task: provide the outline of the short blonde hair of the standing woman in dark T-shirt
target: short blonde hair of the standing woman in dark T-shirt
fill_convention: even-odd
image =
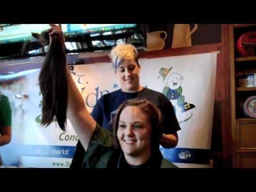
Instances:
[[[109,57],[111,59],[114,70],[121,64],[123,60],[133,59],[138,62],[138,51],[132,44],[118,43],[110,52]]]

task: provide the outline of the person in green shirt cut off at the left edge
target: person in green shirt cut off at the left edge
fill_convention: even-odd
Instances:
[[[9,99],[0,92],[0,147],[11,141],[12,111]],[[0,166],[3,164],[0,155]]]

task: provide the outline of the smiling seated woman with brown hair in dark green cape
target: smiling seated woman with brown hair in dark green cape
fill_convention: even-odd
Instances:
[[[89,122],[90,118],[85,115],[84,121]],[[78,134],[86,151],[84,168],[177,168],[159,150],[163,134],[161,111],[145,99],[122,103],[114,120],[113,134],[95,121],[84,129],[92,134],[89,140]]]

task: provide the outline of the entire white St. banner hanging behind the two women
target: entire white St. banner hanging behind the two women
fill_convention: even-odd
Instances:
[[[140,59],[142,86],[164,93],[180,123],[179,143],[162,154],[179,167],[209,167],[217,53]],[[39,69],[0,77],[1,91],[11,102],[13,137],[0,147],[5,166],[69,167],[77,137],[70,122],[39,125],[42,95]],[[120,89],[111,63],[74,66],[72,76],[89,112],[106,93]],[[26,93],[28,98],[16,98]]]

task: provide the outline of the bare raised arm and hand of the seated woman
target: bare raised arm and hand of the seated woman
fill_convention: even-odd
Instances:
[[[65,37],[63,36],[62,30],[59,26],[51,25],[48,30],[50,35],[50,43],[52,43],[52,35],[58,34],[64,47]],[[66,67],[67,82],[68,82],[68,107],[67,107],[67,118],[69,118],[77,137],[81,141],[85,150],[89,145],[90,139],[96,127],[96,122],[91,117],[86,109],[82,95],[79,93],[69,69]]]

